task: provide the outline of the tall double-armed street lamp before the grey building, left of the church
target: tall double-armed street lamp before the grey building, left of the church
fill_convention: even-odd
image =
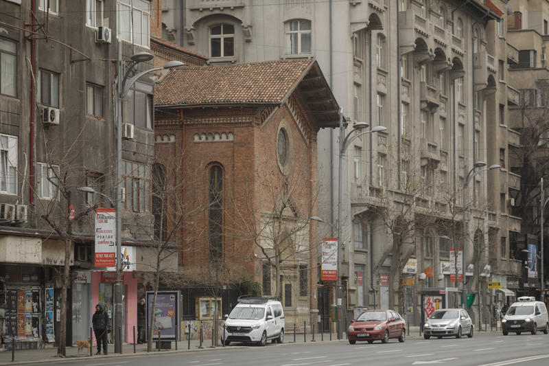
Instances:
[[[122,60],[122,43],[118,43],[118,80],[117,80],[117,136],[116,136],[116,182],[115,189],[115,211],[116,211],[116,282],[115,282],[115,352],[122,353],[122,266],[119,260],[122,251],[122,234],[121,234],[121,201],[122,190],[120,183],[122,181],[122,101],[126,98],[126,94],[132,88],[133,84],[142,76],[153,71],[162,69],[172,69],[173,67],[183,66],[183,62],[169,61],[163,67],[155,67],[136,73],[130,78],[130,73],[135,66],[141,62],[148,62],[154,56],[148,52],[137,52],[131,57],[130,65],[126,70],[126,65]],[[86,191],[84,191],[86,192]],[[111,201],[112,202],[112,201]]]

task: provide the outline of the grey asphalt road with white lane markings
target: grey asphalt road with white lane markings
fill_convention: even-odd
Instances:
[[[504,366],[549,365],[549,335],[517,336],[475,334],[473,339],[408,338],[405,343],[391,339],[387,344],[347,341],[266,347],[229,346],[200,352],[95,358],[63,362],[72,366],[347,366],[347,365],[452,365]]]

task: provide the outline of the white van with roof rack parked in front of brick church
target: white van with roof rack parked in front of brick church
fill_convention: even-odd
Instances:
[[[240,297],[231,314],[225,315],[225,330],[222,340],[231,342],[253,342],[266,345],[284,341],[284,311],[280,301],[267,297]]]

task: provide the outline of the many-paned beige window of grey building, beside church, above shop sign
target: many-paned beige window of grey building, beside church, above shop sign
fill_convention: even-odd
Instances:
[[[150,167],[133,161],[122,161],[122,179],[126,186],[124,209],[133,212],[150,212]]]

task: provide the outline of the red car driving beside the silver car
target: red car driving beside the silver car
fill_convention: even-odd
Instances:
[[[356,341],[387,343],[390,338],[397,338],[399,342],[406,339],[406,322],[393,310],[366,310],[358,319],[351,320],[347,330],[351,345]]]

